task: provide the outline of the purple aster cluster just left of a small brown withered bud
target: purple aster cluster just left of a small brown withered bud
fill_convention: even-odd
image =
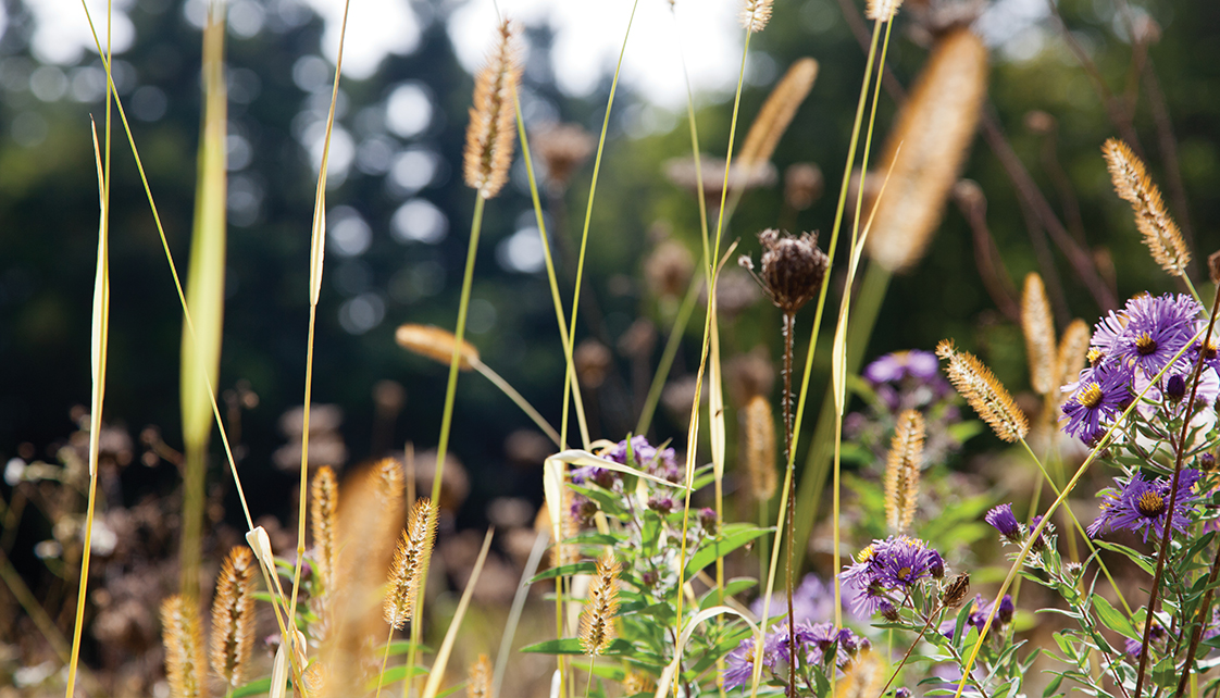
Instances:
[[[874,541],[839,578],[859,616],[894,616],[911,588],[921,580],[943,578],[944,559],[927,543],[908,536]]]

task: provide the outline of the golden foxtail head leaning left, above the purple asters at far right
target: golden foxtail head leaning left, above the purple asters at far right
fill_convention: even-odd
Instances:
[[[1169,215],[1160,189],[1148,177],[1144,164],[1126,143],[1110,138],[1102,145],[1105,165],[1114,181],[1114,190],[1131,204],[1136,227],[1152,253],[1152,259],[1172,276],[1186,276],[1191,250],[1182,232]]]

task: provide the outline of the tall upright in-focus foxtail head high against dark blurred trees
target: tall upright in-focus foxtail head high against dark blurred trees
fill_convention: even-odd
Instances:
[[[509,179],[516,139],[516,93],[521,65],[514,27],[505,20],[487,65],[475,77],[475,104],[466,128],[466,185],[483,199],[500,193]]]

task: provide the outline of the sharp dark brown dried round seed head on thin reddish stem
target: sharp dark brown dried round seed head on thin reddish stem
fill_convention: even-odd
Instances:
[[[769,228],[759,233],[759,242],[762,244],[759,283],[776,308],[793,315],[817,295],[830,257],[817,249],[817,233],[792,237]],[[750,257],[743,255],[738,262],[754,271]]]

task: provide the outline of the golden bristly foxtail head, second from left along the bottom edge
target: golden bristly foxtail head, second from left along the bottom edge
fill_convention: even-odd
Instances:
[[[233,688],[245,683],[254,652],[254,580],[257,572],[254,553],[245,545],[235,545],[216,578],[212,670]]]

